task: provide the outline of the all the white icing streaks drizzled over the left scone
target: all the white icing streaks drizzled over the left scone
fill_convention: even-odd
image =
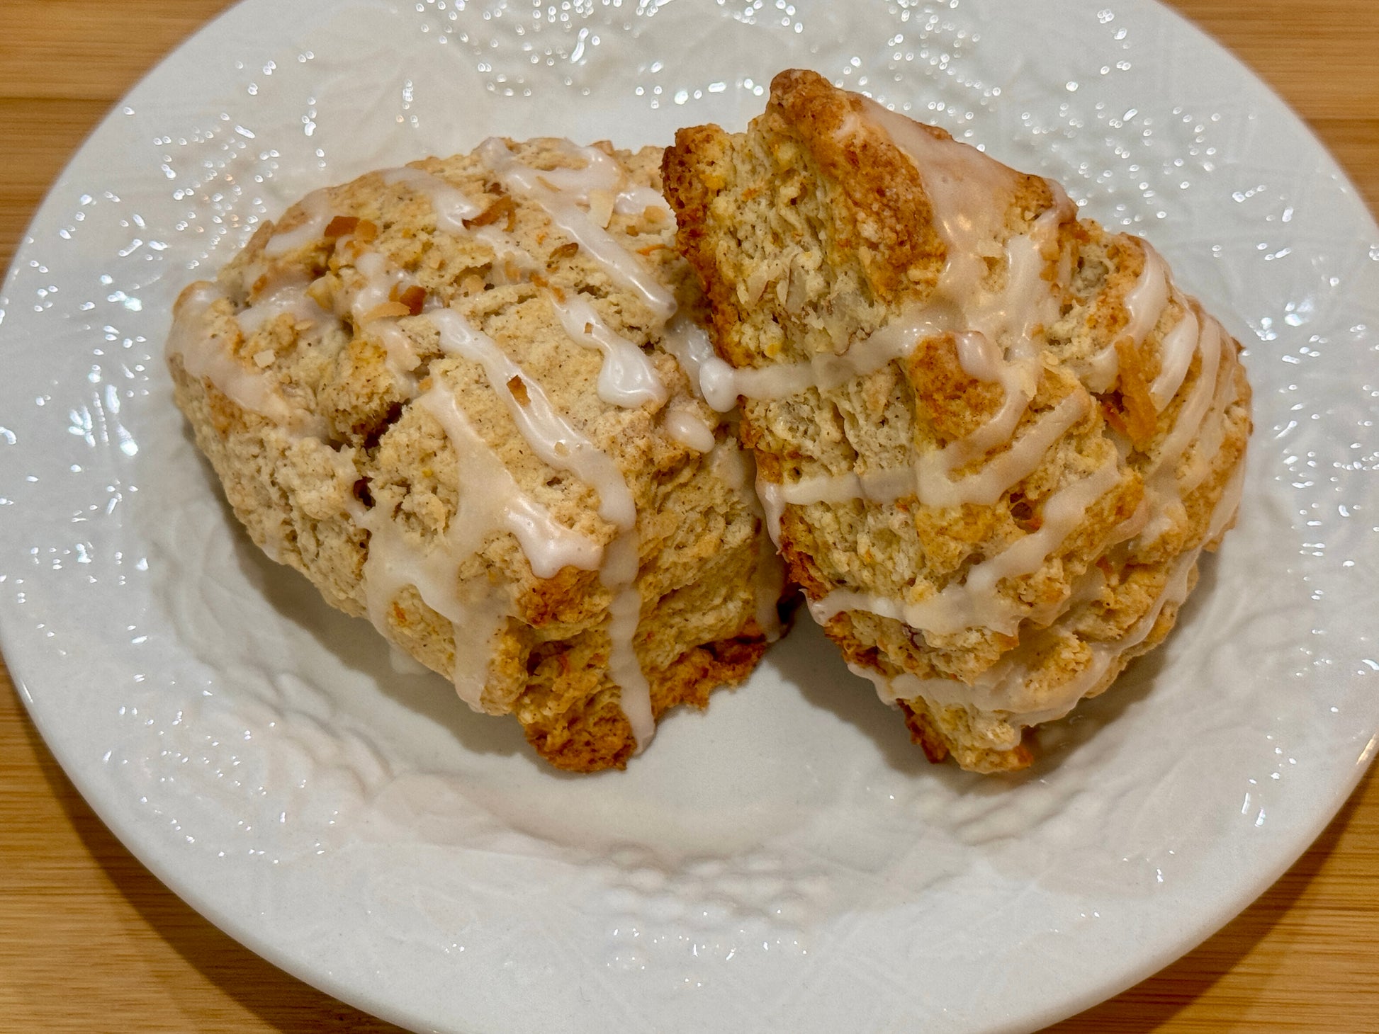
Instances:
[[[669,318],[676,309],[673,295],[663,288],[632,252],[622,248],[603,226],[608,215],[645,212],[651,207],[667,210],[661,194],[650,187],[625,183],[621,165],[593,148],[567,149],[585,157],[585,168],[539,172],[519,163],[506,145],[490,141],[485,145],[491,165],[505,186],[541,204],[552,221],[571,240],[592,255],[615,281],[637,291],[661,318]],[[538,269],[536,261],[513,237],[496,225],[467,227],[465,221],[483,214],[483,208],[462,190],[441,176],[419,168],[400,168],[383,175],[385,183],[401,185],[425,196],[434,212],[439,232],[467,234],[487,243],[505,265],[495,267],[495,277],[525,277]],[[607,194],[603,200],[601,194]],[[597,223],[579,204],[590,204],[600,196],[604,208],[603,223]],[[308,219],[301,226],[269,239],[265,255],[281,255],[319,240],[334,212],[328,194],[316,192],[302,201]],[[516,267],[516,273],[512,269]],[[387,365],[404,393],[414,396],[444,427],[459,465],[461,496],[444,535],[437,536],[426,550],[419,550],[404,535],[401,525],[378,507],[365,509],[350,500],[348,509],[361,527],[370,531],[370,550],[364,564],[364,593],[370,619],[385,631],[389,627],[387,608],[405,586],[416,587],[422,601],[454,627],[454,680],[456,692],[472,707],[499,710],[502,706],[484,700],[492,644],[507,619],[516,614],[513,601],[501,586],[490,583],[487,575],[461,582],[459,567],[474,554],[491,534],[510,532],[523,549],[532,572],[538,578],[552,578],[563,567],[600,572],[604,586],[614,593],[610,604],[610,677],[621,689],[621,704],[632,724],[636,749],[640,751],[655,731],[651,689],[641,671],[634,642],[641,614],[641,594],[637,587],[638,536],[636,509],[627,483],[611,456],[597,449],[579,434],[570,422],[556,412],[542,389],[521,368],[512,363],[496,343],[476,331],[456,309],[432,306],[427,316],[440,334],[441,349],[479,363],[502,398],[528,445],[547,465],[568,470],[590,485],[598,495],[598,513],[618,529],[618,538],[607,547],[553,520],[550,513],[520,491],[502,460],[469,425],[454,396],[440,386],[415,397],[416,383],[411,371],[418,367],[418,356],[411,338],[397,325],[393,316],[368,318],[381,305],[392,301],[397,291],[412,285],[404,272],[389,265],[385,255],[363,251],[354,256],[354,269],[361,278],[341,299],[342,312],[349,312],[356,325],[367,325],[387,353]],[[276,382],[263,369],[250,369],[234,361],[225,342],[204,334],[205,309],[222,296],[214,285],[193,292],[183,305],[168,339],[168,352],[183,356],[188,371],[205,376],[245,409],[261,412],[270,419],[287,422],[292,412],[280,396]],[[592,306],[581,298],[563,298],[553,306],[567,332],[581,345],[604,353],[600,372],[600,397],[615,405],[663,405],[669,392],[661,382],[647,356],[630,341],[614,334]],[[298,321],[328,325],[334,318],[320,309],[306,294],[305,285],[283,285],[274,294],[259,299],[240,314],[245,334],[283,313]],[[193,330],[196,328],[196,330]],[[707,339],[685,318],[667,338],[684,342],[681,364],[690,368],[707,349]],[[667,341],[667,346],[672,342]],[[698,390],[698,368],[691,383]],[[521,385],[521,400],[514,385]],[[731,405],[731,403],[729,403]],[[669,433],[701,452],[716,448],[713,429],[688,409],[667,414]],[[298,433],[301,436],[301,433]],[[353,477],[353,463],[342,476]],[[750,491],[743,498],[749,498]],[[764,547],[758,557],[757,600],[758,623],[772,638],[778,634],[775,601],[779,598],[779,558]],[[776,575],[774,590],[763,590],[763,579]],[[769,598],[768,598],[769,597]]]

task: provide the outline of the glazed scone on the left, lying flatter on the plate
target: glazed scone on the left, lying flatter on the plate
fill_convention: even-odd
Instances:
[[[252,539],[576,772],[778,627],[750,460],[665,347],[703,332],[659,160],[494,138],[319,190],[168,339]]]

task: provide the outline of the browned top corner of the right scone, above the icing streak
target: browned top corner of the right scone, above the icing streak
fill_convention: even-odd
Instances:
[[[717,127],[680,130],[662,160],[677,243],[703,284],[724,358],[756,367],[794,342],[805,353],[841,352],[847,327],[874,328],[887,306],[932,290],[945,251],[927,218],[928,197],[914,167],[862,120],[859,99],[840,102],[815,73],[783,72],[753,121],[753,139],[761,150],[749,164]],[[829,196],[796,207],[803,182],[827,183]],[[775,266],[772,276],[749,281],[732,251],[720,247],[738,219],[767,226],[768,248],[749,258]],[[830,265],[826,256],[847,258]],[[822,324],[805,323],[798,307],[801,285],[812,280],[827,281],[832,296]],[[767,283],[779,288],[761,290]],[[760,332],[743,321],[743,305],[767,323]]]

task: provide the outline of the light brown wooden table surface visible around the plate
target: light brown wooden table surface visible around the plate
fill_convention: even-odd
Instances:
[[[226,0],[0,0],[0,267],[106,109]],[[1379,0],[1174,0],[1379,210]],[[101,824],[0,666],[0,1030],[383,1031],[221,933]],[[1254,906],[1052,1030],[1379,1031],[1379,780]]]

